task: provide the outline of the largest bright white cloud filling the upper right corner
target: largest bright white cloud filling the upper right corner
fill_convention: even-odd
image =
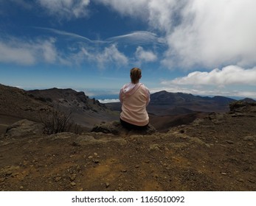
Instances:
[[[187,68],[255,64],[255,6],[253,0],[188,1],[181,23],[167,31],[163,63]]]

